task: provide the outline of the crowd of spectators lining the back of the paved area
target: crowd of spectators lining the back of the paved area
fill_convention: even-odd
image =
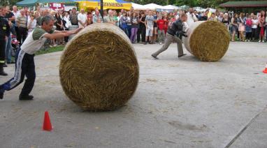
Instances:
[[[27,38],[27,34],[31,34],[31,31],[41,26],[41,18],[45,15],[55,17],[55,29],[59,31],[104,22],[120,27],[129,36],[131,43],[162,44],[164,43],[168,27],[175,20],[178,20],[182,13],[187,13],[188,17],[185,27],[189,27],[189,24],[192,22],[203,20],[222,22],[225,24],[226,29],[229,30],[231,41],[264,42],[265,38],[267,38],[267,17],[264,11],[250,14],[223,13],[219,11],[212,13],[207,9],[205,12],[200,13],[189,8],[189,10],[168,13],[155,10],[133,10],[131,8],[129,11],[104,10],[102,17],[98,8],[88,12],[80,9],[78,12],[76,8],[64,11],[41,9],[40,7],[36,7],[36,10],[29,10],[29,8],[24,7],[18,10],[17,6],[13,6],[12,10],[10,10],[10,7],[6,6],[5,12],[0,12],[9,21],[11,34],[17,36],[20,45]],[[8,63],[13,63],[10,59],[10,40],[11,36],[9,36],[6,45],[6,59]],[[62,38],[60,40],[50,40],[49,43],[50,46],[64,45],[68,40],[69,38]]]

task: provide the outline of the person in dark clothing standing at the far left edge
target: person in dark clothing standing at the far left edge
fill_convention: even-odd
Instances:
[[[6,7],[0,6],[0,75],[8,75],[3,71],[3,65],[5,64],[5,52],[6,52],[6,38],[10,34],[10,27],[6,16]]]

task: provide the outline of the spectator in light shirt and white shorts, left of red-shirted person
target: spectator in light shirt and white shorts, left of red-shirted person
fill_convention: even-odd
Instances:
[[[153,36],[153,25],[154,25],[154,17],[152,15],[152,10],[148,11],[147,17],[145,17],[145,45],[147,41],[152,44],[152,36]]]

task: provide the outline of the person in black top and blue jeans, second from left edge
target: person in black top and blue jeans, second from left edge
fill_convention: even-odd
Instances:
[[[6,19],[8,20],[8,24],[10,24],[10,31],[12,34],[15,34],[15,16],[14,14],[10,11],[9,6],[6,6]],[[11,60],[11,34],[9,32],[8,34],[8,40],[6,40],[6,62],[7,64],[14,64],[14,61]]]

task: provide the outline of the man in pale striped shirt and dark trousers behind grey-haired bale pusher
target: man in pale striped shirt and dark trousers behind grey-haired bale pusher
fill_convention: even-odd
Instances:
[[[22,9],[20,10],[20,15],[17,17],[17,27],[18,27],[18,34],[17,40],[20,42],[20,45],[24,42],[27,38],[27,16],[25,15],[25,11]]]

